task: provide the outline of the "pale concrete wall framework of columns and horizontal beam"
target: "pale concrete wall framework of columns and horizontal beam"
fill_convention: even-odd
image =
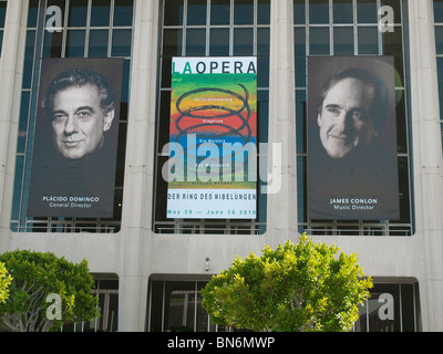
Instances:
[[[0,252],[53,251],[73,261],[86,258],[92,272],[120,277],[121,331],[144,331],[151,274],[207,274],[234,258],[298,240],[292,0],[271,2],[269,143],[281,143],[281,189],[268,196],[267,232],[261,236],[161,235],[152,232],[154,135],[157,90],[158,1],[135,1],[122,229],[114,235],[13,233],[10,215],[20,110],[21,67],[28,1],[8,2],[0,63]],[[443,331],[442,148],[431,0],[410,0],[411,106],[415,235],[413,237],[318,237],[357,252],[367,274],[416,278],[424,331]],[[281,45],[282,39],[288,45]]]

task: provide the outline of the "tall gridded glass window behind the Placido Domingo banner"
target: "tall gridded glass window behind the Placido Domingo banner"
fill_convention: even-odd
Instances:
[[[2,3],[3,1],[0,1],[0,15]],[[45,21],[39,17],[45,15],[45,6],[58,6],[62,10],[63,19],[66,19],[66,22],[62,23],[61,31],[44,30]],[[113,21],[111,21],[112,14]],[[120,230],[131,80],[132,23],[133,0],[30,0],[17,148],[18,167],[11,216],[13,231],[116,232]],[[124,59],[113,218],[34,218],[27,216],[41,58],[109,56]]]

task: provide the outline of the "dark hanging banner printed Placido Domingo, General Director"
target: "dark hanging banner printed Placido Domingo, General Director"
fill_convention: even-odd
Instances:
[[[112,218],[123,60],[42,61],[30,217]]]

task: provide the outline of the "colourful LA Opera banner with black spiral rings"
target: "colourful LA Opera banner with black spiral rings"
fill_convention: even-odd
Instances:
[[[174,58],[167,217],[255,219],[256,58]]]

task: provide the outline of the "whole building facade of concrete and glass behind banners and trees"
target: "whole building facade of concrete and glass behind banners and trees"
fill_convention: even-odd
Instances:
[[[0,1],[0,251],[87,260],[103,315],[66,330],[227,331],[200,305],[212,274],[306,232],[373,279],[354,331],[443,331],[442,0],[14,0]],[[173,58],[230,56],[257,60],[257,208],[171,218]],[[393,59],[396,220],[311,218],[311,56]],[[28,212],[42,61],[68,58],[123,63],[110,218]]]

